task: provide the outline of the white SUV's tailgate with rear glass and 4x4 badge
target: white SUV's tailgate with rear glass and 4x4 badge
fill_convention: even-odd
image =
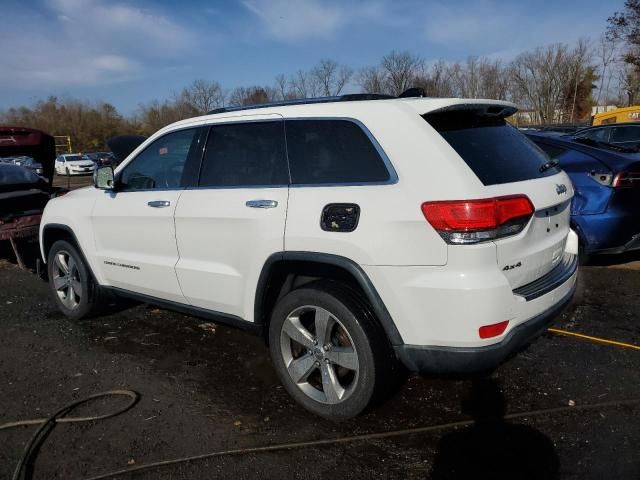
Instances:
[[[484,184],[482,198],[526,195],[534,214],[520,233],[495,240],[496,261],[513,288],[536,280],[562,260],[573,187],[550,158],[504,119],[472,111],[425,118]]]

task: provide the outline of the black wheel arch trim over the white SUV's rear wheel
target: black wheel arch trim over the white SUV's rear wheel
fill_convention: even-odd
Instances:
[[[254,321],[268,326],[269,316],[279,298],[295,288],[322,278],[351,283],[367,300],[390,344],[404,343],[389,311],[364,270],[349,258],[328,253],[292,251],[272,254],[258,278]],[[268,329],[265,328],[265,331]]]

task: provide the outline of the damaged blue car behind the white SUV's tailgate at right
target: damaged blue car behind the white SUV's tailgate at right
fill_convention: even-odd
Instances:
[[[526,132],[575,188],[571,225],[583,259],[640,249],[640,153],[590,138]]]

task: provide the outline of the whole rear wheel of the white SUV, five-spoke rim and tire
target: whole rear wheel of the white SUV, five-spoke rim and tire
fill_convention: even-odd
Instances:
[[[289,394],[331,420],[361,413],[384,390],[393,360],[366,305],[324,282],[294,290],[276,305],[271,357]]]

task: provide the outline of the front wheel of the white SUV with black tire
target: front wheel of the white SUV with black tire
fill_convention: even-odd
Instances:
[[[57,260],[59,255],[69,259],[66,261],[69,273],[64,278],[61,276],[63,273],[63,269],[60,267],[61,263]],[[51,246],[47,256],[47,274],[53,301],[67,317],[80,320],[99,312],[101,307],[100,287],[96,284],[84,257],[73,243],[58,240]],[[63,283],[65,283],[66,289],[62,287],[60,290]],[[79,289],[80,293],[73,291],[69,294],[69,286],[72,289]]]

